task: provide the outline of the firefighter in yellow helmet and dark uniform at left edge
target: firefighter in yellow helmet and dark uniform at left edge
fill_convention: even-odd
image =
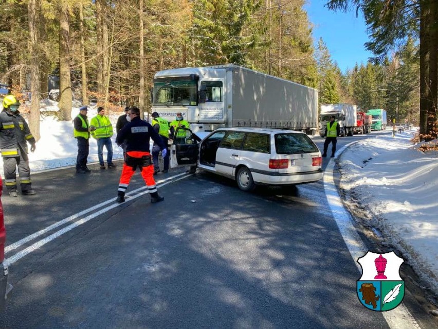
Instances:
[[[35,151],[35,138],[30,133],[26,120],[18,110],[20,102],[14,95],[3,99],[3,111],[0,113],[0,149],[3,157],[5,185],[10,197],[17,196],[16,168],[19,169],[21,192],[23,195],[34,195],[30,180],[27,143],[30,151]]]

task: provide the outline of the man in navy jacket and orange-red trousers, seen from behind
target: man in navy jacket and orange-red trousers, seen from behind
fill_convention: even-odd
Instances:
[[[148,186],[151,202],[160,202],[164,198],[158,195],[155,185],[154,166],[152,165],[149,150],[150,138],[163,150],[163,157],[166,156],[167,148],[151,124],[140,118],[140,110],[138,108],[130,108],[128,114],[129,123],[120,130],[116,137],[117,145],[126,141],[126,159],[123,163],[122,174],[120,176],[117,202],[125,201],[126,189],[137,167],[140,168],[141,176]]]

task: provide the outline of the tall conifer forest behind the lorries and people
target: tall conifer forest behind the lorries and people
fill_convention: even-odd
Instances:
[[[375,57],[342,72],[314,40],[304,0],[2,0],[0,82],[31,95],[37,138],[50,76],[58,117],[71,120],[72,100],[148,112],[155,72],[227,63],[316,88],[321,104],[386,109],[436,137],[438,2],[324,1],[364,16]]]

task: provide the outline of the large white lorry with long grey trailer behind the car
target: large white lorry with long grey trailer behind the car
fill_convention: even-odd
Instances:
[[[221,127],[305,131],[318,127],[318,90],[227,64],[157,72],[152,112],[169,121],[181,112],[193,132]]]

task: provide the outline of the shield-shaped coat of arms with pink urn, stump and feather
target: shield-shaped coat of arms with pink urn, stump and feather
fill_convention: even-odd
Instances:
[[[357,297],[363,306],[375,311],[388,311],[397,307],[405,297],[405,281],[399,270],[404,262],[393,251],[368,251],[357,259],[362,276],[357,281]]]

